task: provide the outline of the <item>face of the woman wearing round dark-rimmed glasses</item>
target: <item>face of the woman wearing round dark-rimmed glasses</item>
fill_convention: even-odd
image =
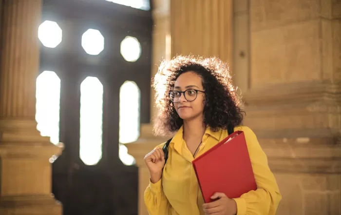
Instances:
[[[174,107],[179,117],[183,120],[190,120],[196,117],[202,117],[204,111],[204,91],[202,78],[193,71],[188,71],[181,74],[174,83],[174,91],[186,92],[186,98],[184,93],[181,93],[178,102],[174,102]],[[195,90],[199,90],[196,92]],[[196,98],[195,98],[195,94]],[[195,99],[194,99],[195,98]],[[192,100],[193,101],[189,101]]]

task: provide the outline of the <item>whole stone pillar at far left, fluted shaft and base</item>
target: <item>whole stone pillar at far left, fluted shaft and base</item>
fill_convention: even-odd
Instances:
[[[41,0],[4,0],[1,13],[0,214],[61,215],[49,162],[61,148],[35,120]]]

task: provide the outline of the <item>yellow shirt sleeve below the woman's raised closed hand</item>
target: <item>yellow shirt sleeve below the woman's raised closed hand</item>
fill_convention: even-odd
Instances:
[[[163,147],[162,143],[155,148]],[[144,193],[144,201],[149,215],[171,215],[171,206],[162,189],[162,177],[156,182],[149,181]]]

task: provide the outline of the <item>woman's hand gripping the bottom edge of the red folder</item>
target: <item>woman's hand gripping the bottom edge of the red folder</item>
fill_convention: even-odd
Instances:
[[[213,202],[203,204],[206,215],[236,215],[237,204],[223,193],[215,193],[211,199],[217,199]]]

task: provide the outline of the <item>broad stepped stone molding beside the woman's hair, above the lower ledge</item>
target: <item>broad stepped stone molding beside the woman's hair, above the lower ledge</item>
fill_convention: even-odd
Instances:
[[[246,92],[245,124],[262,138],[341,138],[341,85],[309,81]]]

